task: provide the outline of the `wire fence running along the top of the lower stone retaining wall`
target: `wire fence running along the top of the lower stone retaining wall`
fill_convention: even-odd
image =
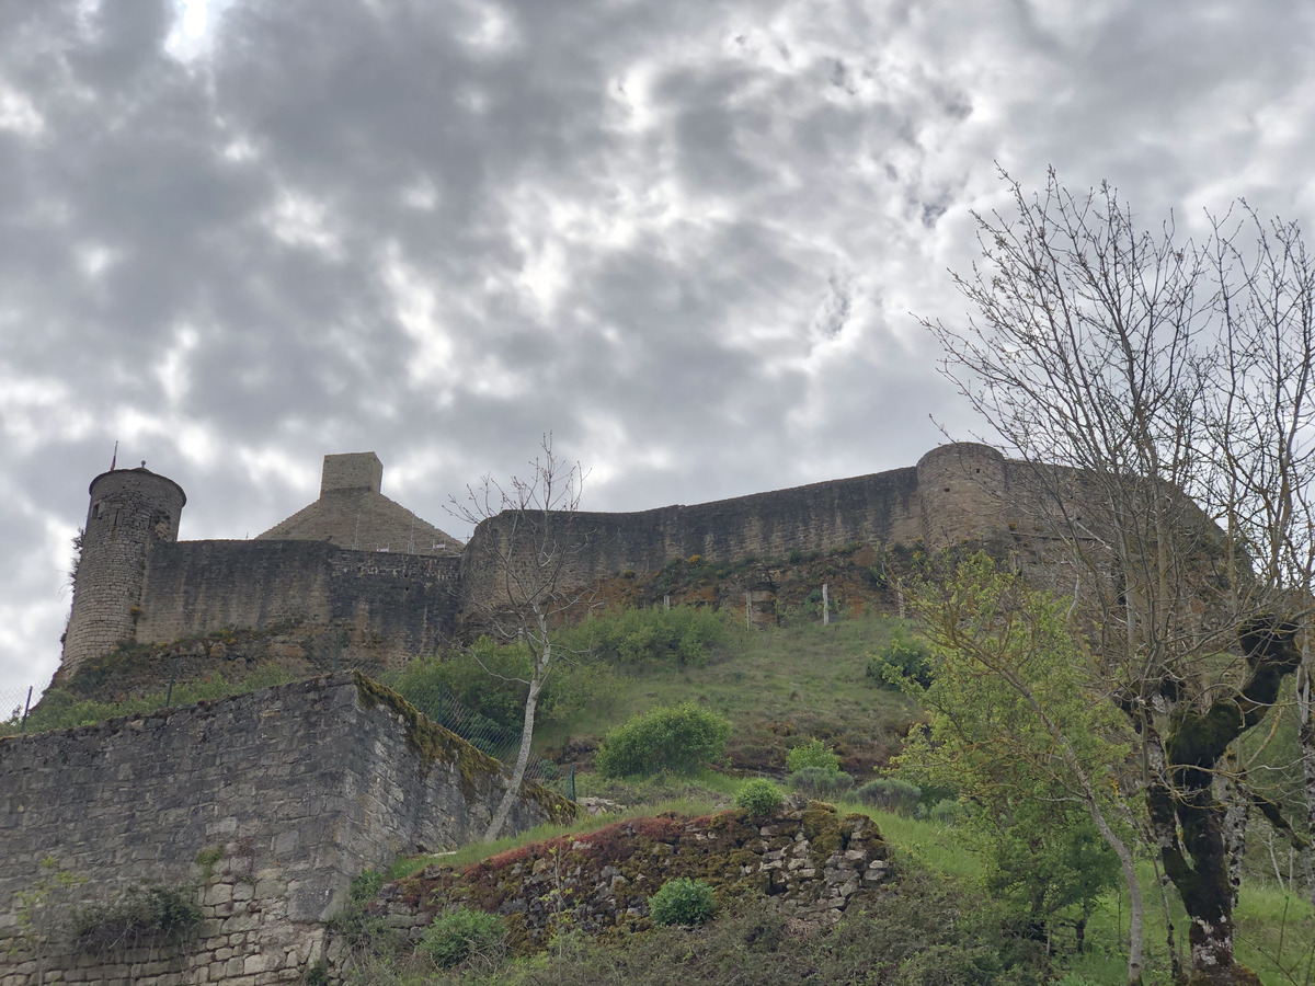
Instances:
[[[251,647],[249,642],[234,644],[216,635],[192,642],[178,653],[108,670],[104,680],[93,677],[83,685],[85,694],[63,689],[42,694],[36,686],[7,688],[0,690],[0,736],[88,726],[339,670],[359,670],[394,688],[430,722],[508,766],[515,763],[521,747],[519,724],[494,722],[463,705],[441,685],[408,681],[377,657],[355,651],[342,632],[263,648]],[[573,770],[563,773],[546,757],[531,755],[525,780],[575,799]]]

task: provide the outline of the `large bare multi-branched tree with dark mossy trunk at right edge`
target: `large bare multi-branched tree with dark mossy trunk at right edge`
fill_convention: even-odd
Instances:
[[[1107,185],[1074,196],[1051,172],[1028,197],[1005,177],[1016,216],[976,217],[982,259],[955,279],[978,318],[923,325],[945,373],[1031,463],[1040,509],[1023,528],[1044,555],[1034,560],[1070,565],[1074,617],[1136,730],[1143,810],[1186,906],[1194,981],[1256,982],[1233,960],[1216,789],[1249,790],[1230,749],[1301,663],[1308,578],[1277,578],[1264,550],[1286,560],[1310,539],[1294,506],[1312,440],[1308,322],[1276,318],[1315,300],[1301,237],[1245,213],[1255,248],[1227,218],[1199,247],[1172,220],[1140,230]]]

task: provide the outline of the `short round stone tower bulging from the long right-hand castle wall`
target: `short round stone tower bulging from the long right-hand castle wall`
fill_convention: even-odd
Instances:
[[[1005,456],[977,442],[932,448],[918,460],[923,542],[939,551],[1009,525]]]

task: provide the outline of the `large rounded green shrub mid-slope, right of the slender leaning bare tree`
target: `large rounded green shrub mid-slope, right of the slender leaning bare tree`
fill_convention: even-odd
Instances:
[[[594,759],[604,777],[689,774],[726,756],[730,722],[693,702],[654,709],[611,730]]]

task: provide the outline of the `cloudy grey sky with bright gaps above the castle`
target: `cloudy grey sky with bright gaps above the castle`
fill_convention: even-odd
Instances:
[[[963,317],[995,162],[1310,226],[1312,11],[0,0],[0,697],[58,664],[116,440],[195,539],[326,452],[463,535],[546,430],[625,510],[967,436],[910,312]]]

